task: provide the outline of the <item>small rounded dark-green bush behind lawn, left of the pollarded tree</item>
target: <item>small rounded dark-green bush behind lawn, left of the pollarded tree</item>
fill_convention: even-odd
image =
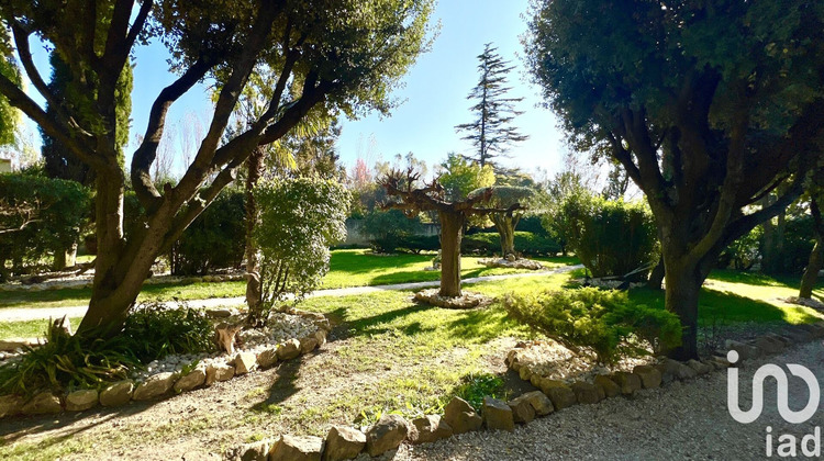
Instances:
[[[398,248],[405,248],[422,231],[419,216],[409,218],[400,210],[375,210],[360,222],[360,232],[370,238],[369,243],[377,252],[390,254]]]

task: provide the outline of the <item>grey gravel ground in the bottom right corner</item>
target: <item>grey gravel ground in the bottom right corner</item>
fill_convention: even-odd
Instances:
[[[781,356],[745,363],[739,381],[742,409],[750,408],[751,376],[765,363],[776,363],[784,370],[786,363],[803,364],[824,384],[824,344],[808,344]],[[783,421],[776,409],[775,380],[765,382],[761,416],[753,424],[739,424],[727,413],[726,387],[726,372],[714,372],[686,384],[642,391],[632,400],[617,397],[567,408],[512,434],[474,432],[433,445],[403,446],[392,459],[756,460],[767,459],[767,426],[772,427],[772,458],[779,458],[781,435],[791,434],[800,442],[816,426],[824,426],[821,404],[819,413],[804,424]],[[803,408],[808,396],[803,381],[790,376],[790,408]],[[824,445],[820,447],[824,449]],[[804,459],[800,443],[798,458]]]

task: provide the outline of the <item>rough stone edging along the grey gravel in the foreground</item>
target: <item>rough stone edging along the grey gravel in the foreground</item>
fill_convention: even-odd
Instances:
[[[713,371],[762,356],[781,353],[793,345],[824,338],[824,322],[791,327],[782,335],[767,334],[747,342],[730,340],[724,350],[710,359],[690,360],[686,363],[662,359],[657,364],[637,366],[632,372],[615,372],[598,375],[594,383],[578,381],[567,385],[537,374],[528,375],[520,367],[512,351],[506,362],[521,376],[527,375],[541,391],[527,392],[509,402],[485,397],[480,415],[466,401],[454,397],[444,409],[444,415],[426,415],[407,421],[399,415],[383,415],[366,432],[354,427],[333,426],[325,438],[283,435],[244,443],[230,449],[227,460],[259,461],[339,461],[357,458],[361,452],[377,457],[397,449],[404,440],[410,443],[430,443],[453,435],[475,430],[514,430],[515,424],[527,424],[536,417],[577,404],[597,404],[619,395],[632,396],[643,389],[654,389],[673,381],[689,381]],[[737,361],[727,360],[735,351]],[[534,381],[533,381],[534,380]]]

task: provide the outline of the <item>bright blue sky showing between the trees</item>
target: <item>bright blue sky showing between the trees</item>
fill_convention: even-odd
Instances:
[[[441,0],[433,16],[433,23],[439,21],[441,29],[432,50],[419,58],[404,78],[404,88],[393,94],[402,104],[388,117],[372,114],[343,121],[337,146],[342,162],[350,167],[363,157],[372,164],[412,151],[427,164],[436,165],[449,151],[471,153],[470,144],[461,140],[454,127],[472,119],[471,102],[466,97],[478,81],[476,56],[486,43],[492,42],[499,54],[515,66],[509,77],[513,87],[510,94],[524,98],[519,105],[524,114],[515,124],[530,136],[512,149],[512,159],[505,164],[527,171],[537,168],[558,171],[565,150],[563,135],[552,112],[537,106],[542,101],[539,90],[526,82],[517,56],[522,54],[519,36],[526,27],[521,15],[527,5],[528,0]],[[46,52],[40,46],[33,48],[37,67],[48,78]],[[160,44],[136,49],[131,139],[145,130],[152,102],[175,78],[167,70],[167,57]],[[168,123],[177,125],[180,132],[193,117],[205,125],[210,113],[209,89],[201,85],[171,106]],[[179,139],[170,144],[172,150],[179,150]],[[180,159],[176,169],[182,169]]]

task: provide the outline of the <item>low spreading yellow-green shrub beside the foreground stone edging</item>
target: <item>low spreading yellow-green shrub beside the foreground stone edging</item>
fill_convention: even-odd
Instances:
[[[570,348],[591,348],[602,363],[679,346],[681,324],[661,308],[633,304],[627,294],[594,288],[508,294],[509,315]]]

